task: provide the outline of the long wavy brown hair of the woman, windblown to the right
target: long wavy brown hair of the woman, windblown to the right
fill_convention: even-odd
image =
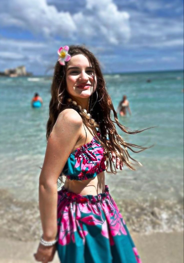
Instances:
[[[134,153],[139,153],[149,147],[143,147],[140,145],[125,142],[124,139],[117,133],[115,123],[122,131],[127,134],[140,133],[150,128],[134,131],[126,130],[126,128],[118,121],[112,100],[106,90],[106,83],[103,78],[99,62],[95,58],[94,54],[91,53],[84,46],[80,45],[70,46],[69,54],[71,55],[71,57],[77,54],[83,54],[85,57],[87,57],[89,62],[91,63],[94,74],[96,75],[96,90],[90,96],[89,113],[91,114],[91,118],[95,119],[96,122],[99,124],[99,132],[101,136],[98,139],[106,151],[106,170],[110,166],[110,172],[116,174],[116,167],[112,161],[111,152],[115,152],[116,156],[120,158],[120,161],[129,169],[135,170],[132,160],[135,162],[137,161],[130,156],[128,150]],[[70,97],[67,92],[67,83],[65,78],[66,68],[67,62],[65,62],[65,66],[60,65],[58,61],[55,64],[54,77],[51,86],[51,100],[49,104],[49,119],[47,122],[47,140],[58,118],[59,113],[66,108],[67,99]],[[75,105],[73,105],[72,108],[79,112],[79,108]],[[111,111],[114,114],[114,120],[111,119]],[[91,132],[89,122],[86,121],[85,117],[81,117],[83,118],[83,123]],[[137,148],[138,150],[135,150],[132,147]],[[59,179],[63,181],[62,176],[60,176]]]

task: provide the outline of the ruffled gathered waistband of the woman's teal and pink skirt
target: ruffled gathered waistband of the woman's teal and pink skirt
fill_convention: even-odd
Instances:
[[[58,195],[68,199],[71,202],[98,203],[98,202],[104,200],[109,195],[109,187],[108,187],[108,185],[105,185],[105,192],[100,193],[98,195],[80,195],[80,194],[75,194],[73,192],[67,191],[63,186],[62,189],[58,192]]]

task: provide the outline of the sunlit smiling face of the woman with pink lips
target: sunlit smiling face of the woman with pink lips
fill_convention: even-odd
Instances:
[[[71,57],[66,69],[66,83],[71,98],[89,100],[96,90],[96,76],[88,58],[82,54]]]

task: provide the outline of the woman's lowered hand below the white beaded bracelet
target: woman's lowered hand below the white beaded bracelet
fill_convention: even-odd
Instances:
[[[51,262],[54,258],[55,251],[56,245],[43,246],[42,244],[39,244],[38,250],[36,254],[34,254],[35,260],[42,263]]]

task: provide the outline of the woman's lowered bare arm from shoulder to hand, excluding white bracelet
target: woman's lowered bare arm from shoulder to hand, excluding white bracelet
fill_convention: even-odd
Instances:
[[[60,113],[49,136],[45,159],[39,178],[39,210],[43,239],[52,241],[57,236],[57,180],[64,165],[79,139],[83,122],[73,109]],[[35,259],[51,259],[50,251],[39,245]],[[38,260],[39,261],[39,260]]]

